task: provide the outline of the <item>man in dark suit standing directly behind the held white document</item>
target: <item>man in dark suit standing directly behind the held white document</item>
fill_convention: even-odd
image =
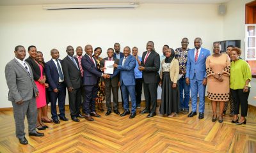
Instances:
[[[116,64],[118,64],[119,59],[115,59],[113,57],[114,50],[113,48],[108,48],[108,57],[102,59],[100,61],[100,68],[104,68],[105,61],[115,61]],[[116,69],[114,69],[115,71]],[[103,82],[102,85],[105,87],[105,94],[106,94],[106,104],[108,111],[106,112],[106,116],[108,116],[111,113],[112,107],[111,107],[111,89],[113,94],[113,110],[118,115],[120,112],[118,112],[118,82],[119,78],[118,76],[113,78],[102,78]]]

